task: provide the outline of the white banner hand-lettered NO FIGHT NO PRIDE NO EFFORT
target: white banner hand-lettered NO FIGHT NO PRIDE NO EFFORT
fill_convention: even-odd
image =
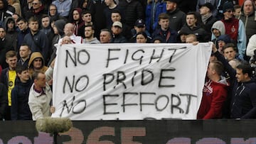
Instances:
[[[195,119],[212,43],[58,47],[53,117]]]

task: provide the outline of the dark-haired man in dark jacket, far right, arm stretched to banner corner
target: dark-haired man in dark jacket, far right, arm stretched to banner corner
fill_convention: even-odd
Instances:
[[[213,52],[230,75],[230,118],[256,118],[256,83],[252,78],[252,68],[247,62],[242,62],[235,72],[215,45]]]

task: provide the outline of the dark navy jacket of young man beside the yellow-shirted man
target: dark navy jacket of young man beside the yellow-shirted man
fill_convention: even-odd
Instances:
[[[28,95],[32,80],[26,83],[16,78],[14,89],[11,91],[11,120],[32,120],[32,114],[28,106]]]

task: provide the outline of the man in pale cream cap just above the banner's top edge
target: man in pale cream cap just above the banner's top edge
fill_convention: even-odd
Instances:
[[[112,24],[112,43],[125,43],[127,39],[122,35],[122,23],[120,21],[114,21]]]

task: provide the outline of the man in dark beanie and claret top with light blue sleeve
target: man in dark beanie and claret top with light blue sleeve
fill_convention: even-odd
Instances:
[[[223,19],[221,21],[225,26],[225,34],[230,35],[230,38],[237,44],[239,57],[243,59],[246,48],[245,26],[241,20],[233,18],[233,11],[232,2],[228,1],[223,4]]]

